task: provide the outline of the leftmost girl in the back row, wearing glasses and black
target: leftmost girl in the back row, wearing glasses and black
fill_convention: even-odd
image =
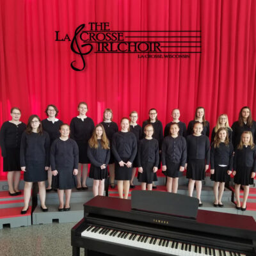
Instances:
[[[20,195],[20,140],[26,124],[20,122],[20,109],[12,108],[12,120],[4,122],[0,130],[3,171],[7,173],[9,195]]]

